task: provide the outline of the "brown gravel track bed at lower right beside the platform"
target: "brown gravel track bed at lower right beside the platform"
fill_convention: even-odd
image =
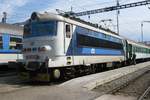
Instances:
[[[106,83],[102,86],[99,86],[94,89],[94,91],[99,92],[100,96],[105,94],[111,95],[124,95],[124,96],[133,96],[138,100],[149,100],[149,99],[139,99],[147,97],[149,98],[150,92],[150,70],[145,69],[140,74],[140,71],[137,71],[134,74],[122,77],[120,79],[114,80],[112,82]],[[147,91],[145,91],[148,88]],[[145,92],[144,92],[145,91]],[[143,93],[144,92],[144,93]]]

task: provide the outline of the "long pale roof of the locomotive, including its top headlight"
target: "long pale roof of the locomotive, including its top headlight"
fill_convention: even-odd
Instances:
[[[118,37],[118,38],[122,39],[122,37],[120,37],[115,32],[104,29],[102,27],[97,27],[96,24],[92,24],[92,23],[86,22],[84,20],[81,20],[79,18],[75,18],[75,17],[69,17],[69,16],[65,16],[65,15],[63,16],[63,15],[54,14],[54,13],[47,13],[47,12],[45,12],[44,14],[34,12],[31,15],[31,20],[39,20],[39,21],[59,20],[59,21],[65,21],[65,22],[68,22],[68,23],[71,23],[71,24],[75,24],[75,25],[84,27],[84,28],[88,28],[88,29],[93,30],[93,31],[103,32],[105,34],[112,35],[114,37]]]

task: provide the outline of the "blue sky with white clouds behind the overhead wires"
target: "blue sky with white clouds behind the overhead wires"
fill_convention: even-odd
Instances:
[[[143,0],[119,0],[120,4]],[[116,0],[0,0],[0,19],[7,12],[7,22],[16,23],[27,20],[31,13],[54,12],[56,9],[74,12],[92,10],[116,5]],[[119,33],[135,41],[141,41],[141,22],[150,21],[150,5],[120,10]],[[116,11],[80,17],[116,31]],[[111,22],[101,20],[111,19]],[[143,24],[144,41],[150,41],[150,23]]]

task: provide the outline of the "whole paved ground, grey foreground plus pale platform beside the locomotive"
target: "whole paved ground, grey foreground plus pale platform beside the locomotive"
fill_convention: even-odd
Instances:
[[[104,84],[115,78],[121,77],[122,75],[132,73],[149,65],[150,62],[146,62],[136,66],[128,66],[108,72],[72,79],[59,85],[29,85],[28,88],[17,89],[9,92],[5,91],[4,93],[0,92],[0,100],[94,100],[96,98],[97,100],[100,100],[98,99],[99,93],[91,91],[91,89],[97,85]],[[0,86],[2,87],[1,82]]]

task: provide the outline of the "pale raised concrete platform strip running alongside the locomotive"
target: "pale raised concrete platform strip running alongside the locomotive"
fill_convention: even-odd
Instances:
[[[115,70],[75,78],[60,84],[59,86],[71,90],[92,90],[97,86],[103,85],[105,83],[111,82],[112,80],[148,67],[150,67],[150,62],[144,62]]]

